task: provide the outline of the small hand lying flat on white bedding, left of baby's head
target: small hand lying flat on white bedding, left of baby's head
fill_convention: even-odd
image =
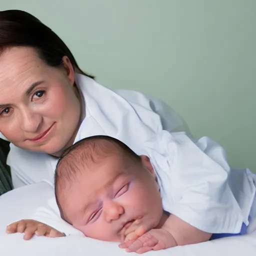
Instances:
[[[24,240],[29,240],[34,234],[37,236],[60,237],[65,236],[55,228],[32,219],[22,219],[6,227],[7,233],[24,233]]]

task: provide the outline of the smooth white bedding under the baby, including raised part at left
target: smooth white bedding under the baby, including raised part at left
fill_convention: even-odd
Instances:
[[[46,182],[23,186],[0,196],[0,255],[36,256],[84,256],[84,255],[128,255],[118,248],[117,243],[104,242],[81,236],[61,238],[34,237],[23,240],[22,234],[6,234],[7,224],[22,218],[28,218],[37,207],[47,206],[53,188]],[[38,198],[40,200],[38,200]],[[255,223],[256,224],[256,223]],[[255,225],[256,227],[256,225]],[[254,228],[255,230],[256,228]],[[256,231],[249,235],[216,239],[204,243],[178,246],[160,251],[151,251],[146,255],[171,256],[254,256],[256,252]],[[132,255],[132,254],[131,254]]]

